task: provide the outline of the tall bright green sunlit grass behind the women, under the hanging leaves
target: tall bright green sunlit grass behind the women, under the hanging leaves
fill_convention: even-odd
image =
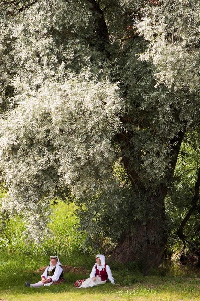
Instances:
[[[40,245],[29,240],[26,234],[26,225],[19,216],[5,220],[1,228],[0,250],[23,254],[58,254],[59,256],[71,256],[80,253],[84,241],[84,235],[78,231],[79,220],[74,214],[73,203],[60,202],[52,207],[48,237]]]

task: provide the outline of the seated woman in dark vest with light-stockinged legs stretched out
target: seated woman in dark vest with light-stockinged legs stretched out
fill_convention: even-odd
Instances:
[[[44,273],[41,275],[41,281],[33,284],[30,281],[25,283],[27,287],[42,287],[64,282],[63,268],[58,256],[50,256],[50,265],[46,267]]]

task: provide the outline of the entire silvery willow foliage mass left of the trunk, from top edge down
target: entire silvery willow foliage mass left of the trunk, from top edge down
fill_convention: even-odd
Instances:
[[[81,198],[101,181],[114,189],[112,139],[123,103],[90,47],[98,41],[88,4],[38,1],[19,13],[28,3],[1,8],[1,101],[10,112],[1,119],[0,169],[2,208],[24,214],[36,236],[59,191]]]

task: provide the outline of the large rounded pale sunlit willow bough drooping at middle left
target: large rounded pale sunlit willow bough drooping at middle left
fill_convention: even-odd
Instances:
[[[31,94],[24,93],[1,120],[0,169],[8,188],[3,209],[26,212],[37,227],[39,215],[47,217],[50,200],[63,187],[72,187],[80,199],[100,184],[104,191],[108,185],[110,193],[114,190],[108,166],[116,156],[112,138],[121,129],[122,107],[115,87],[106,82],[49,82]],[[117,206],[116,197],[110,202]]]

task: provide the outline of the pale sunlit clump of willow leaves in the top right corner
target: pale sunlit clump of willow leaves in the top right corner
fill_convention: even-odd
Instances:
[[[143,10],[139,32],[149,41],[142,59],[156,66],[158,83],[174,89],[199,87],[200,2],[158,2]]]

